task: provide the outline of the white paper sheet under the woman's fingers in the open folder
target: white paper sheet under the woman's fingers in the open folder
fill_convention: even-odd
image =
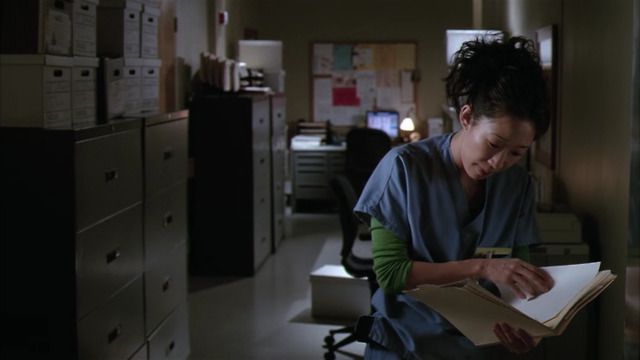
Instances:
[[[509,288],[498,285],[502,300],[527,316],[545,322],[560,312],[598,274],[600,262],[547,266],[543,270],[553,278],[551,290],[535,299],[518,298]]]

